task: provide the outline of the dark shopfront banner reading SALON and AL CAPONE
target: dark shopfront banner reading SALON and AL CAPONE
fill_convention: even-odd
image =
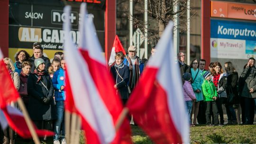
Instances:
[[[105,0],[94,0],[93,2],[87,4],[88,17],[93,20],[95,34],[104,48],[105,9],[103,6]],[[19,49],[30,52],[29,49],[32,49],[35,42],[42,44],[46,55],[51,56],[57,51],[62,51],[64,42],[62,24],[65,20],[70,20],[72,24],[70,35],[73,37],[73,43],[79,44],[80,4],[81,2],[63,0],[34,0],[33,2],[10,0],[9,57],[13,58],[13,54]],[[72,6],[70,16],[66,16],[63,12],[65,5]]]

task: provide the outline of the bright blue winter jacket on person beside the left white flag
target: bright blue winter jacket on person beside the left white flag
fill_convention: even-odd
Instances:
[[[54,92],[55,101],[65,100],[66,99],[65,91],[60,90],[61,86],[65,86],[65,71],[63,68],[60,68],[54,73],[53,86],[55,89],[55,92]]]

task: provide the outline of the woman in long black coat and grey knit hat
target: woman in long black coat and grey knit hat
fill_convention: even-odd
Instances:
[[[56,119],[54,105],[54,87],[50,75],[46,72],[45,61],[35,60],[35,71],[28,76],[27,92],[30,97],[28,113],[39,129],[52,130],[52,120]]]

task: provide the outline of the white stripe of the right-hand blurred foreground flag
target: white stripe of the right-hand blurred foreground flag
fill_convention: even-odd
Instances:
[[[168,107],[174,124],[183,143],[189,143],[189,123],[186,113],[186,106],[183,98],[182,80],[178,64],[175,63],[174,47],[173,47],[173,23],[169,22],[168,26],[156,45],[158,49],[154,57],[151,57],[147,66],[159,68],[157,80],[164,87],[168,96]],[[163,63],[164,62],[164,63]],[[166,75],[169,78],[166,79]]]

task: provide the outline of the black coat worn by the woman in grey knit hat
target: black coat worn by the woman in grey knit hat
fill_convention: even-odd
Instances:
[[[41,81],[45,84],[47,90]],[[28,113],[32,120],[56,119],[56,109],[53,100],[54,87],[48,73],[42,75],[41,80],[38,82],[36,74],[29,74],[27,79],[27,92],[30,97]],[[42,100],[43,98],[50,98],[49,104],[45,104]]]

